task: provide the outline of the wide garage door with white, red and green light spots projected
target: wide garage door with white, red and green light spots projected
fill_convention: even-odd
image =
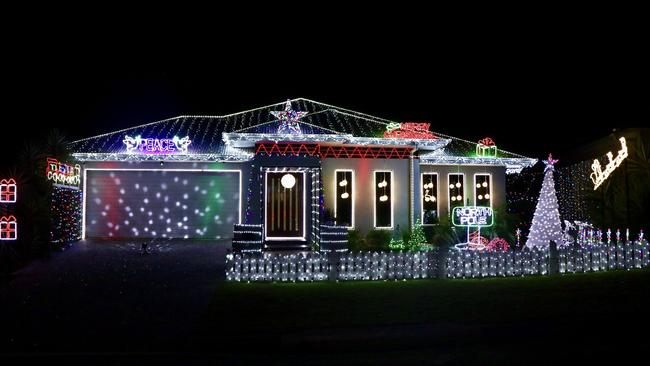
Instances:
[[[86,237],[232,237],[239,171],[87,170]]]

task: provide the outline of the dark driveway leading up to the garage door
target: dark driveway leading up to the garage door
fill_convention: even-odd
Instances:
[[[230,241],[86,240],[15,273],[1,289],[0,350],[147,352],[183,340],[224,277]]]

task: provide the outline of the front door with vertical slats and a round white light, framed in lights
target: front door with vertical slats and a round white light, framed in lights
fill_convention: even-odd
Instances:
[[[267,171],[265,187],[265,239],[306,241],[305,172]]]

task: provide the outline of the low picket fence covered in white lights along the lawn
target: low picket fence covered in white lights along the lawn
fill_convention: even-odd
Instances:
[[[228,281],[349,281],[410,280],[433,277],[485,278],[548,275],[650,265],[647,241],[593,244],[559,248],[557,258],[549,249],[506,252],[299,252],[228,253]],[[442,266],[440,267],[439,264]]]

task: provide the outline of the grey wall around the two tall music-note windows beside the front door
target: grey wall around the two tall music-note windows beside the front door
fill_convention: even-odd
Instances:
[[[354,171],[354,228],[362,233],[374,229],[374,171],[393,172],[393,228],[408,228],[410,223],[410,159],[333,159],[322,161],[323,199],[325,209],[334,211],[335,171]]]

